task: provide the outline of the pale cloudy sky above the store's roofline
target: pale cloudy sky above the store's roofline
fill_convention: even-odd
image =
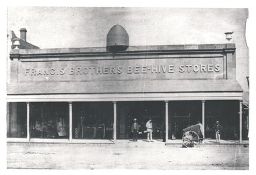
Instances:
[[[9,7],[8,30],[40,48],[106,46],[106,34],[119,23],[131,46],[226,43],[245,44],[247,9],[180,9],[129,7]]]

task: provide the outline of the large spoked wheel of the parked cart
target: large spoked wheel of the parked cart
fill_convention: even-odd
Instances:
[[[183,134],[182,140],[183,140],[183,145],[185,145],[185,147],[192,148],[198,145],[199,136],[194,131],[187,131]]]

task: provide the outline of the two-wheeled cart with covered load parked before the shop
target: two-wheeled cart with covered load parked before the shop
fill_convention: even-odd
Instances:
[[[183,129],[183,145],[187,148],[195,147],[203,141],[203,131],[200,124]]]

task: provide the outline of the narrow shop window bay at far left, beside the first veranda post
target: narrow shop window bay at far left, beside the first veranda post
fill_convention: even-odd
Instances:
[[[7,103],[7,137],[27,137],[26,103]]]

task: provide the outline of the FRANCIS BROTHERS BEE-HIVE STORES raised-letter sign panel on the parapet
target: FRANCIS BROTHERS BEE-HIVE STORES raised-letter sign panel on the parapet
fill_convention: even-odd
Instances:
[[[223,79],[223,57],[19,62],[19,82]]]

